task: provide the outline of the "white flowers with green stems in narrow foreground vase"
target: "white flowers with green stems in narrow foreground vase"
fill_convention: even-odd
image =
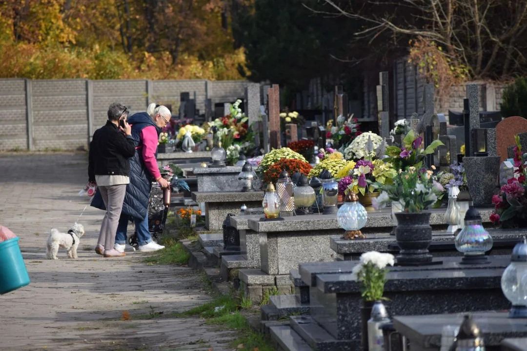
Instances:
[[[352,277],[360,283],[360,293],[364,300],[387,300],[383,297],[387,266],[393,266],[394,263],[392,254],[370,251],[360,255],[359,263],[352,269]]]

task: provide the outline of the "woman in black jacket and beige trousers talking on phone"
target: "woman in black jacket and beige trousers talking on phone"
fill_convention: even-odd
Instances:
[[[95,252],[104,257],[125,255],[124,252],[115,250],[113,246],[126,194],[126,184],[130,183],[128,159],[135,154],[132,127],[126,122],[126,117],[128,117],[128,109],[123,104],[111,104],[106,125],[93,133],[90,143],[89,182],[99,187],[106,206]]]

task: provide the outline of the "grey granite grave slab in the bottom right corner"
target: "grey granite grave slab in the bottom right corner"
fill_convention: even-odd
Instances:
[[[490,306],[489,306],[490,308]],[[482,310],[489,310],[482,308]],[[458,311],[461,311],[461,306]],[[461,325],[466,313],[435,314],[425,316],[395,316],[394,327],[410,340],[412,350],[439,350],[441,332],[445,325]],[[507,312],[476,312],[474,322],[480,327],[487,351],[498,351],[505,338],[527,337],[527,319],[510,319]],[[514,344],[509,344],[514,345]],[[518,344],[516,344],[518,345]],[[524,349],[527,343],[523,345]]]

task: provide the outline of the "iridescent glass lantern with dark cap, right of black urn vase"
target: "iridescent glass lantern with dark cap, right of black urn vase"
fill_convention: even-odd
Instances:
[[[464,254],[461,264],[489,263],[485,253],[492,248],[492,236],[483,228],[480,213],[474,207],[466,212],[465,226],[457,234],[454,243],[456,249]]]

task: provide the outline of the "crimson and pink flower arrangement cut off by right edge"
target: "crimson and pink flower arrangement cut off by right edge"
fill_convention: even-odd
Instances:
[[[494,210],[490,220],[502,228],[522,228],[527,226],[527,155],[522,155],[520,137],[514,136],[514,177],[507,180],[500,193],[492,197]]]

